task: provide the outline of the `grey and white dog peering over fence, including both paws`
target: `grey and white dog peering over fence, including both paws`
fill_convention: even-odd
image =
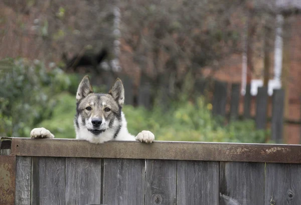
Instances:
[[[76,93],[76,115],[74,127],[76,139],[92,143],[111,140],[139,140],[152,143],[155,136],[150,131],[141,131],[137,136],[127,130],[127,123],[121,111],[124,103],[124,88],[121,80],[116,79],[108,94],[94,93],[88,76],[80,82]],[[44,127],[34,128],[31,138],[54,138]]]

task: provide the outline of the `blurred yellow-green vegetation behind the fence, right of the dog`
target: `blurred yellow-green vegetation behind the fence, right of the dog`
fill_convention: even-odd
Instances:
[[[233,121],[222,125],[222,120],[211,114],[211,104],[199,98],[196,104],[186,102],[164,112],[160,108],[125,106],[129,131],[133,134],[143,129],[154,132],[156,140],[211,141],[264,143],[268,130],[256,130],[253,120]]]

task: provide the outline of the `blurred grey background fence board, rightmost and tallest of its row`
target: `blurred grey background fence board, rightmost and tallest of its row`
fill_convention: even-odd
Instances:
[[[283,133],[284,90],[273,91],[271,140],[282,143]]]

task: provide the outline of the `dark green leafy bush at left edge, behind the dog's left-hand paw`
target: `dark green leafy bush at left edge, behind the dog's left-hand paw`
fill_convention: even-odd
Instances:
[[[69,86],[69,78],[59,68],[47,73],[45,65],[38,60],[1,60],[0,133],[29,136],[35,125],[51,116],[56,101],[49,96]]]

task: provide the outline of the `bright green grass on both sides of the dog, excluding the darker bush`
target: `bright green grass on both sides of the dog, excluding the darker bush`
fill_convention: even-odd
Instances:
[[[56,106],[51,119],[39,124],[56,136],[56,138],[75,138],[73,118],[76,100],[68,92],[55,96]],[[236,121],[227,125],[220,123],[211,115],[210,104],[203,99],[198,103],[171,105],[170,111],[154,109],[148,111],[143,107],[123,107],[128,130],[136,135],[141,130],[150,130],[156,140],[167,141],[212,141],[212,142],[250,142],[264,143],[267,132],[255,130],[254,121]]]

